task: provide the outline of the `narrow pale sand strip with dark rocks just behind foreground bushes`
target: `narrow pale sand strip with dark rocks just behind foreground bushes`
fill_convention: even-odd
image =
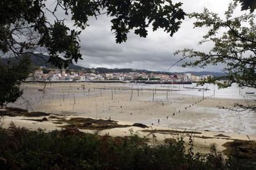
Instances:
[[[56,115],[50,114],[48,116],[36,116],[29,117],[27,116],[4,116],[4,124],[2,127],[8,128],[9,124],[13,122],[17,127],[25,127],[30,131],[37,131],[38,128],[43,129],[46,132],[54,130],[62,130],[64,127],[60,127],[60,124],[56,124],[56,118],[51,118],[51,116],[57,116],[59,118],[64,118],[69,120],[71,118],[86,118],[83,116],[65,116],[65,115]],[[47,121],[35,121],[35,119],[47,118]],[[96,119],[99,120],[99,119]],[[234,140],[256,140],[256,135],[245,135],[245,134],[231,134],[223,132],[211,132],[211,131],[194,131],[189,132],[186,129],[171,129],[161,126],[149,126],[149,127],[136,127],[132,126],[132,122],[127,121],[117,121],[120,125],[129,125],[129,127],[114,127],[111,129],[79,129],[82,132],[88,132],[92,134],[98,134],[100,136],[105,136],[106,134],[111,137],[126,137],[137,134],[139,137],[147,137],[152,143],[153,140],[156,140],[158,144],[164,144],[168,139],[177,139],[177,137],[183,137],[185,142],[185,147],[189,146],[189,137],[193,137],[194,150],[195,152],[208,153],[210,152],[210,145],[215,143],[219,152],[223,152],[226,149],[223,145],[226,142],[233,142]],[[66,125],[64,123],[61,125]],[[75,127],[74,127],[75,128]],[[153,132],[153,133],[152,133]],[[153,138],[153,135],[155,138]]]

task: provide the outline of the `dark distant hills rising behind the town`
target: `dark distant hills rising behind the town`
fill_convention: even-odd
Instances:
[[[9,59],[4,59],[2,60],[4,63],[7,62],[7,60],[10,60],[11,63],[19,63],[20,59],[17,59],[15,57],[9,58]],[[54,65],[52,65],[51,63],[48,63],[47,61],[49,60],[49,56],[48,55],[44,55],[44,54],[32,54],[30,55],[30,60],[32,62],[32,64],[35,67],[46,67],[46,68],[57,68]],[[167,74],[167,75],[176,75],[176,74],[182,74],[182,73],[191,73],[192,75],[197,75],[197,76],[202,76],[202,75],[213,75],[213,76],[224,76],[224,73],[220,73],[220,72],[211,72],[211,71],[186,71],[186,72],[174,72],[174,73],[170,73],[167,71],[150,71],[150,70],[139,70],[139,69],[132,69],[132,68],[103,68],[103,67],[99,67],[99,68],[86,68],[86,67],[81,67],[79,65],[75,65],[73,63],[69,64],[69,69],[72,70],[87,70],[88,72],[92,72],[93,70],[95,70],[98,73],[129,73],[129,72],[138,72],[138,73],[156,73],[156,74]]]

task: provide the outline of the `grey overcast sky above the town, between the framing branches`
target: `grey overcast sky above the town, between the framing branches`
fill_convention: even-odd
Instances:
[[[177,0],[173,2],[179,2]],[[231,0],[181,0],[182,9],[186,13],[202,12],[204,7],[223,15]],[[237,10],[237,12],[240,12]],[[127,42],[116,44],[111,33],[111,18],[101,15],[98,20],[90,18],[89,24],[80,35],[80,46],[83,60],[77,65],[83,67],[106,68],[137,68],[157,71],[167,71],[173,63],[179,60],[173,52],[178,49],[210,49],[211,44],[198,46],[198,41],[207,33],[205,28],[193,28],[193,21],[186,18],[181,28],[173,37],[163,30],[148,30],[147,38],[140,38],[134,33],[128,34]],[[221,66],[203,68],[182,68],[181,63],[171,68],[174,71],[221,71]]]

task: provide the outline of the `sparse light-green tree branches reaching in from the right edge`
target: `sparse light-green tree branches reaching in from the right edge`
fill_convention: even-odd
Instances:
[[[205,67],[207,65],[223,64],[223,72],[226,76],[207,79],[203,83],[216,83],[218,87],[229,87],[237,83],[239,87],[252,87],[256,89],[256,25],[254,14],[244,14],[233,17],[237,3],[230,4],[225,12],[226,18],[221,19],[218,14],[209,12],[189,14],[190,18],[196,18],[195,28],[206,26],[210,28],[203,36],[199,44],[213,42],[214,46],[208,52],[184,49],[175,54],[182,54],[184,59],[193,59],[192,62],[185,62],[184,67]],[[219,31],[224,31],[219,34]],[[218,80],[225,79],[224,83]],[[239,105],[239,104],[237,104]],[[244,109],[256,110],[255,102],[244,106]]]

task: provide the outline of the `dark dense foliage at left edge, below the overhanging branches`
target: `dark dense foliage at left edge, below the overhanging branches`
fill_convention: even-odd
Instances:
[[[0,60],[0,106],[13,103],[22,95],[20,83],[30,74],[30,60],[24,57],[19,64],[8,62],[4,64]]]

